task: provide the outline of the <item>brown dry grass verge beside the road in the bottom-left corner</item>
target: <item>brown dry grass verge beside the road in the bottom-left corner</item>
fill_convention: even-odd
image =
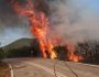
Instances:
[[[10,68],[6,63],[0,63],[0,77],[10,77]]]

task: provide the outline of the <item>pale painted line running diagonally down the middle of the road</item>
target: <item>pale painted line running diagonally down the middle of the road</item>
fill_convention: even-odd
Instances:
[[[45,66],[42,66],[42,65],[40,65],[40,64],[30,63],[30,62],[24,62],[24,63],[25,63],[25,64],[29,64],[29,65],[32,65],[32,66],[36,66],[36,67],[38,67],[38,68],[41,68],[41,69],[46,70],[47,73],[50,73],[50,74],[52,74],[52,75],[55,75],[53,69],[50,69],[50,68],[47,68],[47,67],[45,67]],[[67,77],[67,76],[65,76],[65,75],[63,75],[63,74],[61,74],[61,73],[58,73],[58,72],[56,72],[56,74],[57,74],[58,77]]]

